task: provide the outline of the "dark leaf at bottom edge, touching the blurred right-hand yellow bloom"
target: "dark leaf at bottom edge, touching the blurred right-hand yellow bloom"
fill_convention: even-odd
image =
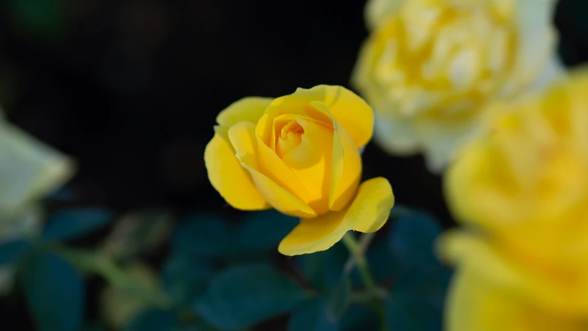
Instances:
[[[418,298],[396,295],[387,301],[385,309],[388,330],[442,330],[441,311]]]

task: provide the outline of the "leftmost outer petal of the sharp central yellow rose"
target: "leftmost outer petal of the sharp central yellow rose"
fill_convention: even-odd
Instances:
[[[241,210],[261,210],[270,205],[255,187],[250,174],[245,170],[229,143],[228,137],[214,137],[204,150],[204,163],[212,186],[234,208]]]

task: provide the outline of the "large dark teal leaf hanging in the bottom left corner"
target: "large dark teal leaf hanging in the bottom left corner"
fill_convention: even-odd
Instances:
[[[52,253],[39,253],[25,266],[23,285],[39,330],[77,331],[81,328],[83,282],[68,261]]]

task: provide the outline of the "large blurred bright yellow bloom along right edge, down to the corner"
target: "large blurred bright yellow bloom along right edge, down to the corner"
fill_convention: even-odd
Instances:
[[[492,107],[447,171],[449,208],[476,231],[440,241],[458,266],[448,330],[587,330],[587,91],[580,72]]]

